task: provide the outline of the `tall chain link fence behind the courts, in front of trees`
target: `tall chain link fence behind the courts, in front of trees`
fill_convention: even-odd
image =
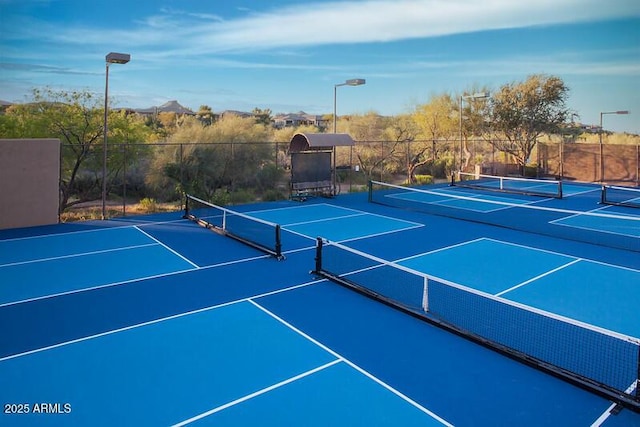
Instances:
[[[112,144],[107,149],[107,216],[179,210],[184,193],[217,204],[286,199],[287,142]],[[100,217],[101,146],[63,145],[61,220]],[[444,182],[458,169],[640,185],[640,145],[540,142],[525,170],[484,139],[356,141],[335,151],[337,193],[364,191],[369,179]]]

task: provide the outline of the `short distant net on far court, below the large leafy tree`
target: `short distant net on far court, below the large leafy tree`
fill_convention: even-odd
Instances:
[[[457,175],[457,180],[456,180]],[[562,181],[457,172],[451,185],[527,196],[562,198]]]

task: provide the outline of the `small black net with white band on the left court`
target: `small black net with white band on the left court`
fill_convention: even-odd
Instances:
[[[282,259],[280,225],[187,194],[184,218]]]

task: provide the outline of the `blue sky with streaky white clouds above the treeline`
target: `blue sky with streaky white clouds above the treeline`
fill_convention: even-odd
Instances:
[[[0,0],[0,99],[32,88],[197,110],[411,111],[433,94],[561,77],[583,123],[640,133],[638,0]]]

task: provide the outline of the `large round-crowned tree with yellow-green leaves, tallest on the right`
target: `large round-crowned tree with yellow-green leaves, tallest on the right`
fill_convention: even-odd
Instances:
[[[537,74],[506,84],[492,96],[487,124],[498,137],[492,143],[513,156],[523,174],[538,138],[561,133],[570,113],[565,105],[568,93],[559,77]]]

